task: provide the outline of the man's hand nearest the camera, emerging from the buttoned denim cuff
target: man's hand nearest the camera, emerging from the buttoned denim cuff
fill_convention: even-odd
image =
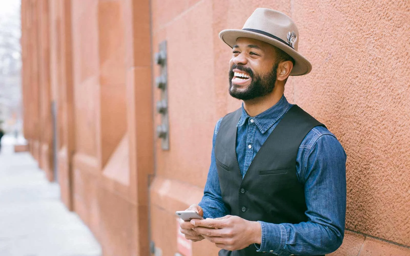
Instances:
[[[239,216],[206,220],[191,220],[194,231],[221,249],[240,250],[249,245],[261,243],[262,228],[259,222],[242,219]]]

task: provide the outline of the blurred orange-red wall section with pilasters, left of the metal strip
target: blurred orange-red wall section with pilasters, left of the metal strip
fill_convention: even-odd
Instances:
[[[25,136],[54,179],[47,159],[57,102],[62,201],[90,227],[105,256],[149,254],[149,14],[146,0],[22,1]]]

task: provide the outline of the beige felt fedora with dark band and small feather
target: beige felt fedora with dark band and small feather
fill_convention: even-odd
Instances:
[[[219,33],[219,38],[231,48],[239,37],[269,43],[289,54],[295,60],[290,75],[306,75],[312,70],[312,64],[298,53],[299,32],[296,24],[280,11],[257,8],[242,29],[225,29]]]

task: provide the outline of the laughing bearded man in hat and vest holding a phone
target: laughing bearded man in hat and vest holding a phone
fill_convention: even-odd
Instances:
[[[219,255],[323,255],[344,236],[346,154],[324,125],[283,96],[289,75],[312,66],[298,30],[279,11],[258,8],[242,30],[219,34],[232,48],[229,93],[242,107],[214,131],[205,220],[181,221],[187,239]]]

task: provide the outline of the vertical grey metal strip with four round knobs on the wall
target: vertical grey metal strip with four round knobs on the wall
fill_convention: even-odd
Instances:
[[[157,113],[161,115],[161,124],[157,126],[157,136],[162,140],[163,150],[169,150],[168,70],[166,62],[166,41],[162,41],[159,44],[159,52],[155,53],[155,63],[160,66],[159,76],[155,77],[155,85],[161,90],[161,99],[157,102]]]

